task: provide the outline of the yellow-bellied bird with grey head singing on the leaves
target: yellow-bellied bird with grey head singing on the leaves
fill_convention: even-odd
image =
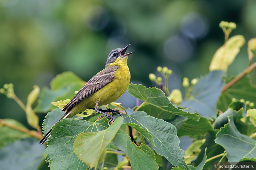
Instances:
[[[110,120],[109,122],[115,121],[113,115],[115,113],[120,115],[118,111],[99,109],[99,106],[116,101],[128,88],[131,75],[127,59],[128,55],[133,53],[126,54],[129,45],[125,48],[116,48],[109,53],[105,68],[86,82],[74,98],[64,106],[62,111],[65,114],[60,120],[71,118],[89,108],[103,114],[100,117],[107,117]],[[113,115],[106,112],[112,112]],[[52,129],[49,130],[39,144],[42,145],[50,137],[51,131]]]

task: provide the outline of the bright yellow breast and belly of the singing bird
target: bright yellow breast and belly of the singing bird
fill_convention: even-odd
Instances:
[[[72,108],[72,115],[70,116],[72,117],[73,115],[76,115],[87,108],[95,107],[98,100],[99,105],[107,105],[116,101],[122,94],[124,94],[130,82],[130,72],[128,66],[119,66],[114,74],[114,77],[115,78],[107,85],[76,104]]]

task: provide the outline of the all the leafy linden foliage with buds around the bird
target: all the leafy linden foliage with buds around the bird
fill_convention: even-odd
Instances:
[[[133,109],[120,103],[101,107],[116,108],[122,113],[114,115],[111,124],[92,110],[58,121],[64,114],[61,108],[85,83],[72,72],[57,75],[50,88],[41,92],[35,86],[27,105],[15,95],[12,84],[4,85],[0,92],[21,106],[28,124],[36,131],[13,119],[0,119],[0,169],[43,170],[47,164],[52,170],[202,170],[211,169],[213,161],[256,161],[255,85],[249,75],[256,63],[251,64],[250,60],[238,76],[226,75],[244,39],[240,35],[228,39],[234,23],[224,22],[220,26],[225,44],[215,53],[207,75],[192,79],[191,84],[187,77],[183,79],[184,98],[179,89],[168,90],[172,70],[157,67],[163,78],[154,74],[149,78],[158,88],[133,83],[128,86],[128,93],[142,100],[142,104]],[[228,62],[221,63],[223,58]],[[40,112],[48,112],[43,133],[35,114]],[[48,142],[39,145],[51,128]],[[186,151],[180,147],[182,136],[193,139]]]

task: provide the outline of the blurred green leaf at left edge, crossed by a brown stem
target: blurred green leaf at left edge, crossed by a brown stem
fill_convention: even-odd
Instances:
[[[3,119],[3,121],[5,121],[9,125],[15,125],[17,127],[27,129],[24,125],[22,125],[21,123],[19,123],[17,120],[14,120],[14,119]],[[22,139],[26,137],[29,137],[29,135],[27,135],[24,132],[20,132],[16,129],[0,124],[0,148],[9,142],[13,142],[17,139]]]

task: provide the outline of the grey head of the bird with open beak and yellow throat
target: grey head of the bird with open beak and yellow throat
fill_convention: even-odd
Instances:
[[[131,44],[129,44],[129,45],[131,45]],[[124,48],[116,48],[116,49],[112,50],[109,53],[108,57],[107,57],[106,66],[111,64],[111,63],[112,64],[119,63],[119,62],[121,62],[121,63],[125,62],[126,63],[128,55],[133,53],[133,52],[131,52],[131,53],[126,54],[126,50],[127,50],[129,45],[127,45]]]

